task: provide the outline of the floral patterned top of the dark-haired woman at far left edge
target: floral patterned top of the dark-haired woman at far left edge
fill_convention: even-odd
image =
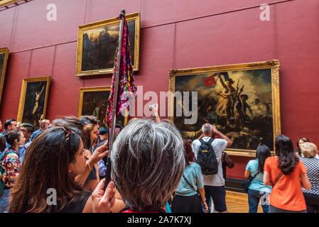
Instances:
[[[9,155],[7,155],[8,153]],[[18,177],[21,168],[18,151],[13,148],[6,149],[1,159],[1,165],[3,168],[2,181],[6,184],[6,188],[10,188]]]

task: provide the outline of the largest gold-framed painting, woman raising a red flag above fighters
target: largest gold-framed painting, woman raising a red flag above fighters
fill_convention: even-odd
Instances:
[[[253,157],[261,143],[274,151],[281,134],[279,60],[171,70],[169,89],[169,118],[183,138],[197,139],[211,123],[232,140],[230,155]],[[189,123],[184,113],[192,108],[196,121]]]

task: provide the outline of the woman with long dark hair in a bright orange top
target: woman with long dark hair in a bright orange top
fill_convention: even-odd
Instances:
[[[306,213],[306,202],[301,187],[310,189],[306,167],[293,149],[286,135],[278,135],[276,156],[266,159],[264,184],[271,185],[269,213]]]

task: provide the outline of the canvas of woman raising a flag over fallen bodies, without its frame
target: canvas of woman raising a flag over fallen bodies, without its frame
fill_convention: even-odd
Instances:
[[[198,92],[198,121],[173,121],[186,139],[195,140],[202,125],[211,123],[233,141],[231,148],[256,150],[264,143],[274,150],[271,88],[270,68],[176,76],[175,92]]]

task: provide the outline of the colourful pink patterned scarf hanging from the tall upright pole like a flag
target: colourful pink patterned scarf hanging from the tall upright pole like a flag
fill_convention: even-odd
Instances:
[[[112,89],[109,93],[108,108],[106,118],[106,124],[108,127],[112,125],[112,110],[114,106],[114,90],[115,86],[119,86],[119,92],[117,95],[117,116],[121,114],[122,110],[129,107],[129,99],[134,99],[136,97],[136,84],[133,76],[133,66],[131,63],[131,48],[129,42],[129,28],[125,20],[125,14],[122,12],[118,17],[119,19],[124,18],[123,24],[123,35],[121,50],[117,50],[117,54],[114,62],[114,73],[112,76]],[[118,52],[121,53],[121,61],[118,62],[117,56]],[[117,72],[119,67],[119,84],[115,84],[115,72]]]

